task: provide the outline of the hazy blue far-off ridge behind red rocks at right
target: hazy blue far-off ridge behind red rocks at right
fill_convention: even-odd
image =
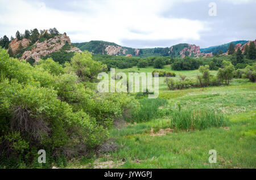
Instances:
[[[219,45],[219,46],[210,46],[209,48],[202,48],[202,49],[200,49],[200,52],[201,53],[212,53],[212,54],[214,54],[214,53],[219,53],[220,50],[221,50],[223,53],[225,53],[225,52],[228,51],[230,43],[233,43],[234,46],[236,46],[237,44],[240,44],[240,43],[241,43],[241,45],[245,45],[247,42],[248,41],[244,41],[244,40],[243,41],[232,41],[232,42],[229,42],[227,44],[222,44],[222,45]]]

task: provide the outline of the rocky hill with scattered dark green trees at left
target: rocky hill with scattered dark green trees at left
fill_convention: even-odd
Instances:
[[[70,61],[74,52],[81,52],[71,44],[66,33],[48,33],[47,30],[37,33],[37,37],[28,35],[27,38],[14,38],[8,46],[9,54],[15,58],[37,63],[39,59],[53,58],[59,63]]]

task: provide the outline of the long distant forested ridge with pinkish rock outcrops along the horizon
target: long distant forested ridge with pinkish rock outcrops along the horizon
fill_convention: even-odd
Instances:
[[[244,45],[248,41],[233,41],[232,43],[236,46],[237,44]],[[125,55],[127,57],[150,57],[150,56],[166,56],[166,57],[212,57],[214,53],[222,53],[228,51],[228,44],[220,46],[212,46],[209,48],[200,49],[200,46],[191,44],[177,44],[166,48],[143,48],[135,49],[128,48],[125,46],[117,45],[113,42],[106,41],[89,41],[81,43],[73,43],[81,51],[88,50],[93,54],[108,54],[108,55]]]

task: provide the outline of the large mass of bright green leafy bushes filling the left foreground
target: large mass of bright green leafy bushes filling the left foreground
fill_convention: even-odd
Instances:
[[[88,52],[64,66],[51,58],[31,66],[0,49],[0,70],[0,168],[63,167],[68,158],[90,157],[107,143],[113,119],[139,106],[126,93],[96,92],[106,65]],[[38,163],[39,149],[46,164]]]

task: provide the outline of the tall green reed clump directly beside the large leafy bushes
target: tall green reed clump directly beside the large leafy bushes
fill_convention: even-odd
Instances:
[[[159,114],[162,115],[162,113],[159,113],[159,107],[168,104],[167,100],[160,98],[143,98],[142,100],[139,100],[139,102],[141,103],[141,107],[138,112],[132,115],[132,119],[130,119],[130,121],[146,122],[151,119],[155,119],[159,117]]]

